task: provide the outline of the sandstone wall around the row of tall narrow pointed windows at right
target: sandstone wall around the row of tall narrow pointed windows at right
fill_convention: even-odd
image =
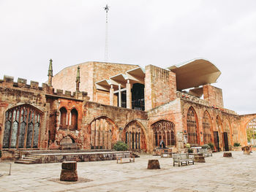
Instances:
[[[226,110],[219,107],[209,106],[208,104],[198,103],[196,101],[189,101],[187,98],[181,99],[181,109],[182,109],[182,124],[184,127],[184,135],[187,134],[187,112],[189,107],[192,107],[196,113],[197,119],[197,143],[199,145],[205,144],[203,141],[203,115],[204,112],[208,112],[211,119],[211,142],[214,143],[214,133],[213,131],[219,131],[219,147],[223,150],[223,132],[228,132],[228,144],[230,150],[233,147],[234,142],[240,142],[241,145],[246,145],[244,140],[244,130],[241,129],[241,119],[238,115],[230,110]],[[217,126],[217,117],[220,118],[220,127]],[[185,133],[186,132],[186,133]]]

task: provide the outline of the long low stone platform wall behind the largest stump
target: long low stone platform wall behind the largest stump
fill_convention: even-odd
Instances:
[[[109,161],[116,160],[116,154],[127,152],[99,152],[99,153],[48,153],[37,154],[42,156],[42,164],[60,163],[63,161]]]

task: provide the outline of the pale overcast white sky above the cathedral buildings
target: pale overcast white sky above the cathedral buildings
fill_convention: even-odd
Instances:
[[[255,0],[0,0],[0,79],[48,80],[64,67],[108,61],[162,68],[206,58],[222,72],[225,108],[256,113]]]

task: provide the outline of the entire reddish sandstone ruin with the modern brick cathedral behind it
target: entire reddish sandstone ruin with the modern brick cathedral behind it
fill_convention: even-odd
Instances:
[[[212,83],[221,72],[204,59],[162,69],[157,66],[86,62],[69,66],[48,82],[4,76],[0,80],[0,149],[111,149],[122,140],[130,150],[151,153],[163,140],[173,150],[213,143],[255,142],[256,114],[224,108],[222,90]]]

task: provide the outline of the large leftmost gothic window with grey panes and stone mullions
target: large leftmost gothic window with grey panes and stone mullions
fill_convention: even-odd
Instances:
[[[42,113],[31,105],[13,107],[5,113],[4,148],[38,147]]]

